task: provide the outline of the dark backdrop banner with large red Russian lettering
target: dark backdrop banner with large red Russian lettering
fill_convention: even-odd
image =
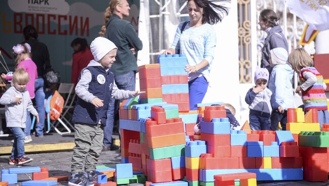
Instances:
[[[71,82],[73,49],[76,37],[89,42],[99,36],[108,1],[90,0],[8,0],[0,6],[0,50],[11,71],[14,70],[13,45],[24,40],[23,28],[33,25],[38,39],[49,49],[51,65],[61,82]],[[139,0],[128,1],[130,16],[125,18],[138,29]],[[0,72],[5,69],[0,66]]]

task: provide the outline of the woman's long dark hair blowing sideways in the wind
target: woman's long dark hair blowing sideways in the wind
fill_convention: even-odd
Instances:
[[[191,0],[187,0],[187,3]],[[225,15],[228,15],[228,7],[220,5],[221,3],[230,3],[231,0],[193,0],[194,3],[203,8],[202,24],[209,23],[214,25],[221,22]]]

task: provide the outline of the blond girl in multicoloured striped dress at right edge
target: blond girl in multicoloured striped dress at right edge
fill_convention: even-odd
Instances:
[[[296,93],[302,92],[304,111],[317,109],[320,127],[323,123],[329,123],[327,98],[324,93],[326,85],[323,83],[322,75],[314,68],[312,58],[301,48],[293,50],[288,61],[299,73],[300,85],[297,86]]]

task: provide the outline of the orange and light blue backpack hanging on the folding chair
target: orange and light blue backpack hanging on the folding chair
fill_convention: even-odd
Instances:
[[[45,108],[47,118],[51,120],[57,120],[63,111],[64,98],[59,94],[57,90],[51,90],[46,92]]]

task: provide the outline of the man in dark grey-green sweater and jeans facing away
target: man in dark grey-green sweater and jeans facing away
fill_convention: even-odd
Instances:
[[[127,0],[112,0],[109,5],[110,17],[106,23],[105,37],[117,46],[116,61],[111,67],[114,81],[119,89],[135,90],[135,74],[138,72],[135,54],[142,50],[142,41],[138,38],[133,25],[122,18],[129,16]],[[104,127],[104,150],[115,150],[112,142],[113,122],[118,110],[119,100],[110,100],[107,110],[107,121]]]

